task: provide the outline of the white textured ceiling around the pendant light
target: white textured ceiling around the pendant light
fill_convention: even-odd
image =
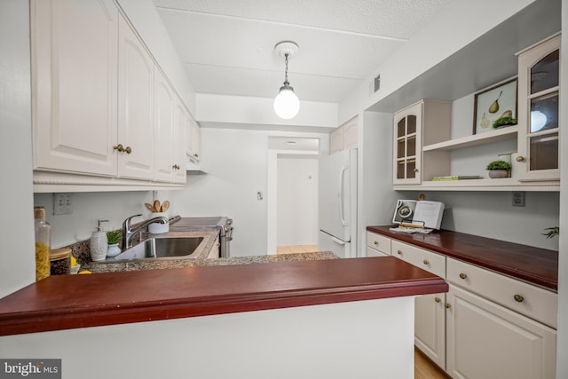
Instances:
[[[154,0],[198,93],[340,102],[452,0]]]

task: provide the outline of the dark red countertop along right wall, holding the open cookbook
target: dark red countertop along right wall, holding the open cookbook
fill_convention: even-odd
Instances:
[[[367,226],[367,231],[383,234],[545,288],[553,290],[558,288],[557,251],[446,230],[430,234],[395,233],[390,232],[390,227],[392,226]]]

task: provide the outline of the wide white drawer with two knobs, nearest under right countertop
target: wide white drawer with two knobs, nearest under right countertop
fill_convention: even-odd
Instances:
[[[447,280],[533,320],[556,328],[555,292],[453,258],[447,259]]]

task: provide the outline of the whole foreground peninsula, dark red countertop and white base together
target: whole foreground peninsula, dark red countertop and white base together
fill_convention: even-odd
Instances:
[[[55,276],[0,300],[0,356],[83,378],[412,378],[414,296],[446,290],[396,257]]]

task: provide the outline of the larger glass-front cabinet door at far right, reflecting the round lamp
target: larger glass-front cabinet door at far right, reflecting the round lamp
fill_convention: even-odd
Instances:
[[[560,35],[518,54],[519,180],[558,180]]]

